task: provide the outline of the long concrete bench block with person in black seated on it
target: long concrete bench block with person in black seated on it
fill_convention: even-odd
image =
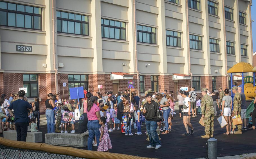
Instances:
[[[45,143],[59,146],[86,147],[88,136],[80,134],[49,133],[45,134]]]

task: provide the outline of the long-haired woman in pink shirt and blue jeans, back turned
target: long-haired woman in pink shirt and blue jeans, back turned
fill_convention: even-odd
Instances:
[[[91,96],[86,108],[86,113],[88,117],[87,127],[89,130],[88,150],[93,149],[92,142],[94,136],[96,136],[97,144],[99,145],[100,143],[100,108],[96,105],[97,99],[98,98],[96,96]]]

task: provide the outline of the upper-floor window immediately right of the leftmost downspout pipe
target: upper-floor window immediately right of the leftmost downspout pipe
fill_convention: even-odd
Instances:
[[[57,32],[89,36],[88,16],[56,11]]]

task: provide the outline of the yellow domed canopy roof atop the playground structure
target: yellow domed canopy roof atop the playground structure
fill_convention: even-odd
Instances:
[[[254,70],[255,69],[255,70]],[[239,62],[228,70],[228,73],[244,73],[256,71],[256,67],[252,67],[251,64],[246,62]]]

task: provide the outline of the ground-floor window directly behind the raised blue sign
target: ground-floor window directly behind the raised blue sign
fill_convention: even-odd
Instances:
[[[88,76],[87,75],[68,75],[68,90],[74,87],[84,87],[88,90]],[[68,95],[70,93],[68,92]]]

